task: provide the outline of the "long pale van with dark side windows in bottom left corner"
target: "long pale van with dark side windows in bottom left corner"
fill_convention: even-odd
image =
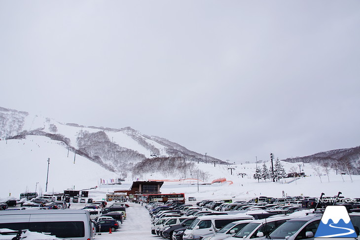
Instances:
[[[29,229],[61,239],[92,240],[94,225],[85,210],[0,211],[0,229]]]

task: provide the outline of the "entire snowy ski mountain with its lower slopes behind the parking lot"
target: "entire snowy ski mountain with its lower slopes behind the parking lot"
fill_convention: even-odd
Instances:
[[[207,156],[205,160],[205,156],[179,144],[142,135],[131,128],[62,124],[27,112],[0,108],[0,138],[0,180],[5,183],[0,188],[0,199],[18,198],[26,191],[44,193],[48,167],[47,192],[50,193],[95,186],[98,186],[95,192],[124,190],[134,180],[165,180],[162,192],[183,192],[198,200],[281,197],[283,194],[319,196],[321,192],[332,196],[338,191],[347,197],[359,196],[360,175],[343,175],[334,168],[326,170],[299,160],[281,162],[287,173],[301,168],[306,177],[277,182],[254,179],[256,167],[266,164],[269,168],[269,161],[261,165],[227,165],[216,160],[214,164],[214,158]],[[202,159],[198,162],[197,158]],[[124,178],[125,182],[107,185],[116,178]],[[100,184],[100,179],[105,184]]]

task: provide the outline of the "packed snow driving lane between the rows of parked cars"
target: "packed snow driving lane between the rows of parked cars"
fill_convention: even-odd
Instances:
[[[101,233],[95,236],[96,240],[152,240],[159,237],[151,234],[150,215],[145,206],[130,204],[126,208],[126,220],[115,232]]]

